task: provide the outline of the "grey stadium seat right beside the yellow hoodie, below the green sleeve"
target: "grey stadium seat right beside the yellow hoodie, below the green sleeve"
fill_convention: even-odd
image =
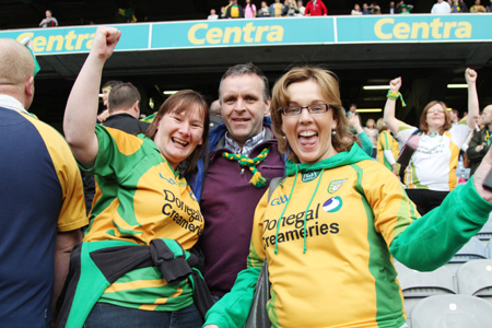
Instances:
[[[395,268],[403,292],[407,315],[424,297],[457,293],[454,276],[446,267],[441,267],[431,272],[420,272],[395,261]]]

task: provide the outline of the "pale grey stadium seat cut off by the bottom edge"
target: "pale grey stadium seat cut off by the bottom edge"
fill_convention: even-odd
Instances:
[[[435,295],[420,301],[408,320],[410,328],[490,328],[492,304],[468,295]]]

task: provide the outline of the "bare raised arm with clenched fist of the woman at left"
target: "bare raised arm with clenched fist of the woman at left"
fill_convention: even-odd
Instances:
[[[121,32],[113,27],[97,27],[91,52],[73,84],[65,110],[63,131],[73,155],[91,167],[98,151],[94,132],[97,97],[106,60],[112,56]]]

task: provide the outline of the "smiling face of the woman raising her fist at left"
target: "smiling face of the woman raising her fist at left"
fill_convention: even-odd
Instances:
[[[177,113],[169,110],[157,125],[154,142],[176,169],[202,143],[203,110],[198,106]]]

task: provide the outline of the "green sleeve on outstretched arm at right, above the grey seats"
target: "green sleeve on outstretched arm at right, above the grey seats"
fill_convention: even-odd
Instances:
[[[491,211],[492,204],[470,179],[449,192],[441,207],[413,221],[393,241],[389,251],[411,269],[435,270],[480,231]]]

